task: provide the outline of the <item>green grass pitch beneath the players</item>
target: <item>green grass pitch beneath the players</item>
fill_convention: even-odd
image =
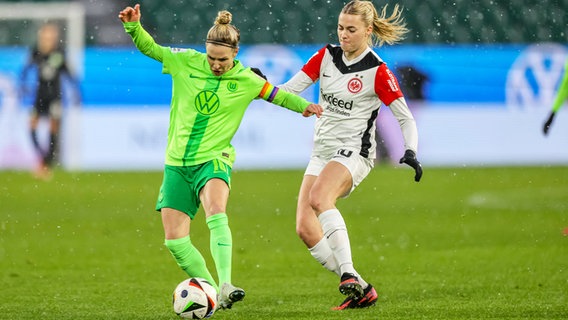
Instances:
[[[160,172],[0,172],[0,319],[176,319],[185,278],[153,211]],[[568,167],[377,167],[338,202],[377,306],[343,312],[338,279],[295,234],[301,171],[236,171],[233,281],[215,319],[567,319]],[[192,239],[206,256],[203,214]],[[213,271],[214,272],[214,271]]]

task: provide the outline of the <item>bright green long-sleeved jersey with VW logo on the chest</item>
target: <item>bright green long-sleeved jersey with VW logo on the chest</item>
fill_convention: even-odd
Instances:
[[[206,54],[160,46],[140,22],[126,22],[124,28],[138,50],[161,62],[162,72],[173,80],[167,165],[193,166],[219,159],[232,166],[235,149],[231,140],[254,99],[261,98],[299,113],[310,104],[299,96],[278,90],[238,60],[231,70],[215,76]]]

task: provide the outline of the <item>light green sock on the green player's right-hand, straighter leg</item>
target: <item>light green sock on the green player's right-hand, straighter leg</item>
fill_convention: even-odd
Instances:
[[[218,213],[205,220],[209,231],[211,255],[215,261],[219,285],[231,283],[231,260],[233,254],[233,238],[229,228],[227,214]]]

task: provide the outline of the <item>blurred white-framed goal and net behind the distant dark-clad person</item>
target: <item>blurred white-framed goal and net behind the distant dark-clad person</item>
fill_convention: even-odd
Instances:
[[[85,48],[85,9],[75,2],[0,3],[0,170],[28,169],[36,165],[37,155],[29,133],[29,108],[23,106],[18,90],[20,72],[41,25],[52,22],[61,29],[60,46],[66,52],[68,67],[82,79]],[[29,104],[29,102],[28,102]],[[59,161],[65,167],[77,163],[79,144],[76,108],[66,108],[61,129]],[[40,140],[48,135],[47,122],[38,128]]]

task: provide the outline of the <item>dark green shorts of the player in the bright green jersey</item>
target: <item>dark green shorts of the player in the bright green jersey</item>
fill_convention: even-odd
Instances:
[[[156,210],[176,209],[193,220],[201,204],[199,191],[207,181],[215,178],[225,181],[231,188],[231,167],[217,159],[196,166],[166,165]]]

